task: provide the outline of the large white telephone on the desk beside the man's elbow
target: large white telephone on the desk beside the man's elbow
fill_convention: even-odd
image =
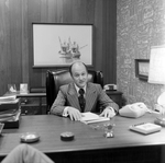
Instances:
[[[125,117],[138,118],[143,116],[147,110],[148,108],[146,107],[146,105],[144,103],[139,102],[123,106],[119,110],[119,114]]]

